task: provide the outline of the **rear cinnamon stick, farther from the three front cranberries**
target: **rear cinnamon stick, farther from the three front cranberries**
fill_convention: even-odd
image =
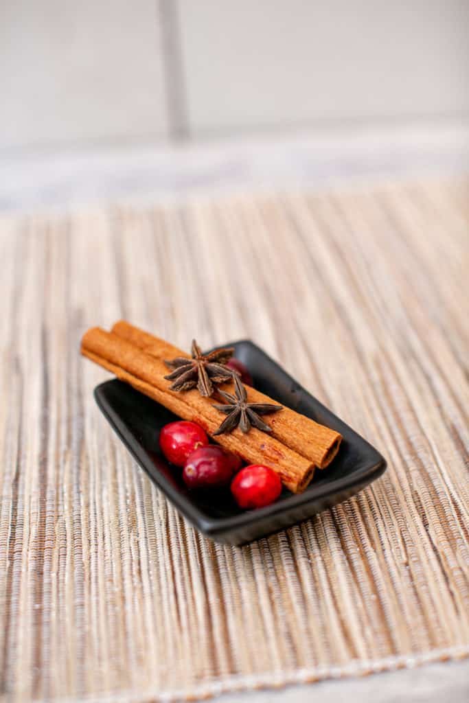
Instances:
[[[181,349],[168,344],[159,337],[150,335],[124,320],[113,325],[113,333],[123,340],[135,344],[146,354],[156,359],[173,359],[175,356],[189,356]],[[167,373],[167,372],[166,372]],[[233,392],[233,384],[225,384],[224,390]],[[269,396],[260,393],[255,388],[246,386],[249,403],[272,403]],[[281,413],[265,415],[264,422],[272,428],[271,437],[309,459],[320,469],[326,468],[338,453],[342,437],[335,430],[315,423],[311,418],[300,415],[290,408],[283,408]]]

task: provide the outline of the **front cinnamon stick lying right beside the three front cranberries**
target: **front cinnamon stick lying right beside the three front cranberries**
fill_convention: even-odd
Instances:
[[[115,333],[100,328],[88,330],[82,339],[82,354],[183,420],[198,423],[207,434],[212,435],[224,418],[213,407],[214,401],[200,396],[196,389],[184,393],[170,391],[171,382],[164,378],[165,363]],[[236,429],[220,435],[217,442],[250,463],[271,466],[293,493],[304,491],[313,477],[314,464],[310,460],[255,427],[248,434]]]

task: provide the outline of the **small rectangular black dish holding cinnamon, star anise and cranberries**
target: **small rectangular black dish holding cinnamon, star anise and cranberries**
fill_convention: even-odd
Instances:
[[[307,393],[262,349],[248,340],[226,344],[248,366],[255,387],[282,405],[337,430],[343,441],[326,470],[316,470],[304,493],[284,489],[276,503],[258,510],[240,510],[224,489],[216,494],[188,491],[181,471],[160,452],[163,425],[177,419],[163,406],[119,380],[96,387],[99,408],[131,455],[176,508],[203,534],[217,542],[243,544],[306,520],[316,512],[345,501],[377,479],[386,468],[383,456],[351,427]]]

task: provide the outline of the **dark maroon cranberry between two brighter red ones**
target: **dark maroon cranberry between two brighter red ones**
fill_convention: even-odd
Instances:
[[[226,486],[233,477],[233,454],[209,444],[195,449],[184,464],[182,477],[188,488]]]

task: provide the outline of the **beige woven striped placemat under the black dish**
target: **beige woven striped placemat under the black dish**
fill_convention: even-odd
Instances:
[[[149,701],[469,651],[469,188],[1,221],[0,695]],[[181,347],[251,337],[386,474],[243,548],[174,512],[78,354],[124,317]]]

